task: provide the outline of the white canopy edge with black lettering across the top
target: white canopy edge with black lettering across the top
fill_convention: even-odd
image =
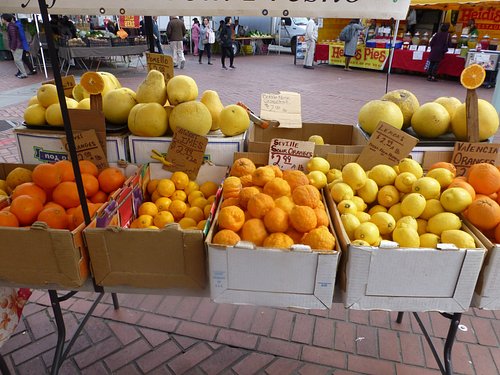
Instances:
[[[21,8],[22,3],[28,3]],[[410,0],[56,0],[51,14],[305,16],[405,19]],[[2,12],[39,13],[35,0],[2,0]]]

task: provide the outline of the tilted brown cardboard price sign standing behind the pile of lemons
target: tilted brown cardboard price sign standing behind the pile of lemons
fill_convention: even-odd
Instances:
[[[406,158],[417,143],[417,138],[380,122],[357,162],[365,170],[377,164],[395,165]]]

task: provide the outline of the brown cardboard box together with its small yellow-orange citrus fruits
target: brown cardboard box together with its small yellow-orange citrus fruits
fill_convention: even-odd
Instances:
[[[96,283],[205,288],[203,229],[226,173],[226,167],[204,164],[196,181],[189,181],[160,163],[141,168],[85,230]]]

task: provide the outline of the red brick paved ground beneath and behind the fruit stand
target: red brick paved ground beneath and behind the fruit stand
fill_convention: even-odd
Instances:
[[[385,75],[344,72],[320,66],[294,66],[290,55],[238,56],[235,71],[220,62],[200,65],[192,57],[184,73],[200,90],[214,89],[223,103],[243,101],[259,112],[260,94],[291,90],[302,95],[303,119],[354,123],[358,109],[385,92]],[[139,69],[112,68],[135,89]],[[19,80],[12,62],[0,62],[0,120],[21,120],[40,75]],[[77,74],[76,72],[75,74]],[[81,73],[81,72],[80,72]],[[406,88],[421,102],[451,95],[464,99],[455,81],[429,83],[420,76],[393,75],[389,89]],[[479,90],[491,99],[492,90]],[[17,161],[12,131],[0,132],[0,161]],[[443,270],[446,272],[446,270]],[[63,304],[68,334],[95,298],[80,293]],[[212,303],[207,298],[119,295],[113,310],[105,297],[76,341],[62,374],[438,374],[437,365],[416,321],[396,313],[345,310],[270,309]],[[448,321],[437,313],[421,317],[441,350]],[[471,309],[462,319],[453,350],[456,373],[500,372],[500,311]],[[49,371],[55,347],[55,323],[47,293],[35,291],[16,334],[0,349],[15,374]]]

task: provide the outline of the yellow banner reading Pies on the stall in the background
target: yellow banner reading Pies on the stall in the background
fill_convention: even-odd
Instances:
[[[388,48],[367,48],[359,46],[356,50],[356,56],[351,59],[350,66],[356,68],[383,70],[389,59]],[[330,44],[330,53],[328,63],[330,65],[344,65],[344,45]]]

